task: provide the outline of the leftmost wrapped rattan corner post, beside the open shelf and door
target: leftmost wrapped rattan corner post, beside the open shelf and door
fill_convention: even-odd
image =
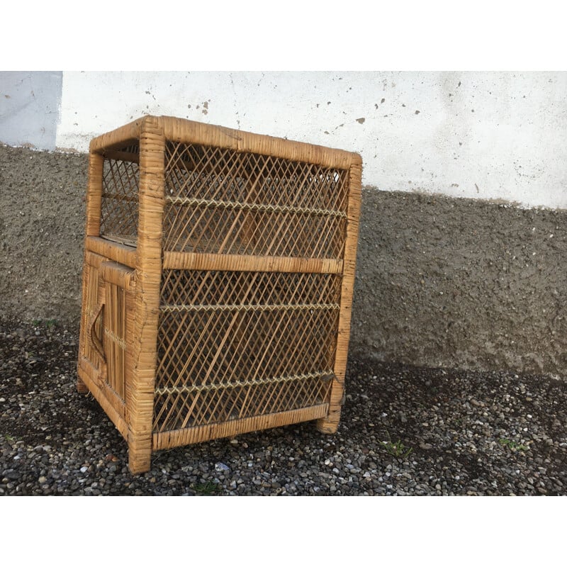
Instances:
[[[104,158],[91,150],[89,153],[89,182],[86,189],[86,229],[85,239],[89,236],[99,236],[101,232],[101,203],[102,203],[102,176]],[[85,240],[86,241],[86,240]],[[92,270],[86,264],[86,246],[83,252],[83,309],[82,325],[79,335],[79,357],[85,349],[85,329],[86,329],[86,303],[88,293],[88,277],[92,277]],[[89,391],[84,382],[77,375],[77,392],[86,393]]]

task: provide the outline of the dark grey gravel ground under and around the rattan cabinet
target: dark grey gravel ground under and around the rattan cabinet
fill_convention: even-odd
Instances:
[[[566,495],[567,383],[351,359],[339,431],[304,423],[159,451],[75,389],[77,336],[0,320],[0,495]]]

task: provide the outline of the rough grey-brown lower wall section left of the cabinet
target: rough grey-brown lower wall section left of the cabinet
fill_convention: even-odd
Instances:
[[[0,309],[77,322],[86,155],[0,146]]]

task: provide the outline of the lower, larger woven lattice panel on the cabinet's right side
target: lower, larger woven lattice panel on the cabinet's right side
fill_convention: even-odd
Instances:
[[[154,430],[327,401],[340,276],[166,270]]]

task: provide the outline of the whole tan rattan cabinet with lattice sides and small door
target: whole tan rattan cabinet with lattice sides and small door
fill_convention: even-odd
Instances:
[[[172,117],[89,154],[79,391],[152,451],[317,420],[344,396],[361,158]]]

